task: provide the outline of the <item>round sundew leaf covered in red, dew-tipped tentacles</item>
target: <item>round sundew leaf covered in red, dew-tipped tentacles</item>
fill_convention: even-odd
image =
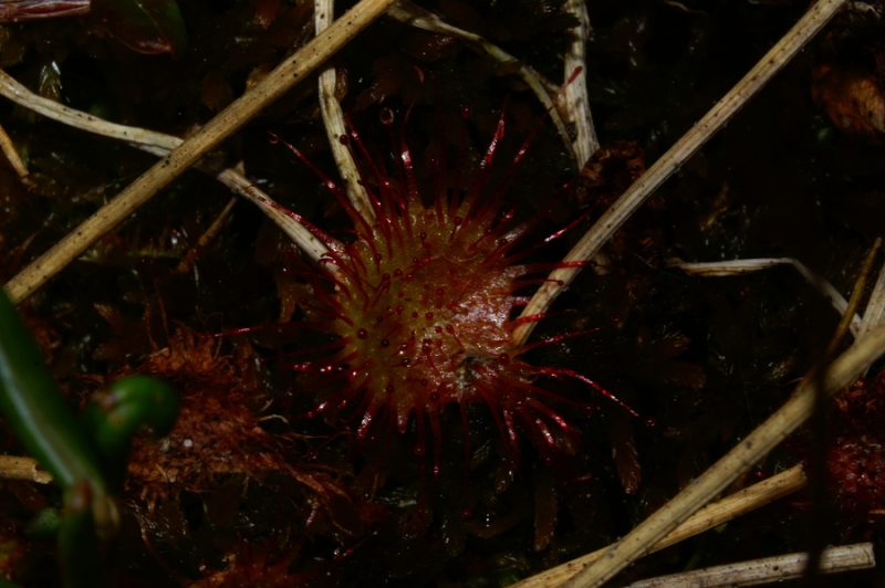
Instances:
[[[446,181],[431,178],[428,183],[436,188],[425,198],[402,137],[392,139],[398,144],[398,169],[389,174],[352,132],[347,143],[363,160],[361,183],[372,213],[361,213],[343,190],[323,178],[351,218],[354,237],[340,243],[312,228],[330,251],[320,260],[329,280],[315,292],[327,318],[317,328],[334,340],[332,347],[317,349],[321,358],[296,365],[299,370],[321,374],[331,390],[313,413],[350,412],[358,421],[360,440],[379,423],[405,433],[414,422],[416,451],[425,453],[428,439],[433,441],[435,474],[444,445],[441,416],[451,406],[460,410],[465,428],[468,408],[485,406],[516,459],[520,431],[545,456],[573,451],[580,435],[562,407],[592,406],[569,400],[542,381],[580,380],[617,401],[572,369],[538,366],[524,358],[533,348],[577,333],[514,342],[518,325],[543,318],[517,317],[528,302],[524,292],[558,264],[522,262],[531,251],[524,243],[529,225],[501,210],[503,186],[489,187],[503,134],[501,115],[464,188],[452,190]],[[518,150],[510,171],[528,144]]]

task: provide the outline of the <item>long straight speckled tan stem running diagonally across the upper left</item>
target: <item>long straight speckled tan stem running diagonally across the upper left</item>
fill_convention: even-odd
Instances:
[[[6,286],[10,297],[13,301],[28,297],[210,149],[315,71],[395,1],[362,0],[354,6],[322,34],[316,35],[294,55],[287,57],[261,82],[233,101],[185,143],[15,275]]]

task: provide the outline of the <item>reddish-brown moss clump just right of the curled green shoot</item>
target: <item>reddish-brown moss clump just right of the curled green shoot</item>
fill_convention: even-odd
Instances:
[[[181,407],[175,428],[162,442],[136,439],[126,487],[148,505],[181,492],[209,492],[219,479],[290,476],[312,495],[315,506],[348,501],[327,473],[287,459],[291,443],[261,427],[262,401],[250,354],[225,355],[219,339],[179,327],[168,347],[150,354],[138,371],[177,387]]]

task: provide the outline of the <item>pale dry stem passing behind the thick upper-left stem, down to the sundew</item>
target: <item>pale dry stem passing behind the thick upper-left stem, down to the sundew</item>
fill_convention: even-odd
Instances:
[[[316,34],[322,33],[334,20],[335,0],[315,0],[313,3],[313,20]],[[363,216],[364,219],[375,217],[372,210],[372,202],[368,192],[360,183],[360,171],[353,160],[353,154],[347,145],[341,141],[341,137],[347,136],[347,127],[344,124],[344,112],[336,96],[337,72],[334,67],[326,67],[320,72],[319,93],[320,113],[323,116],[325,134],[329,137],[329,147],[335,158],[341,179],[347,191],[351,204]]]

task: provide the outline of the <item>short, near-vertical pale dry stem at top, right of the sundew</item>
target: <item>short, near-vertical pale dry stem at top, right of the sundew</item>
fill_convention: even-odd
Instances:
[[[566,117],[575,133],[572,149],[577,158],[577,167],[583,167],[600,148],[600,139],[596,137],[596,129],[593,126],[590,96],[587,95],[586,42],[590,36],[590,15],[584,0],[566,0],[564,8],[566,12],[577,19],[577,27],[572,30],[565,51],[563,101]]]

